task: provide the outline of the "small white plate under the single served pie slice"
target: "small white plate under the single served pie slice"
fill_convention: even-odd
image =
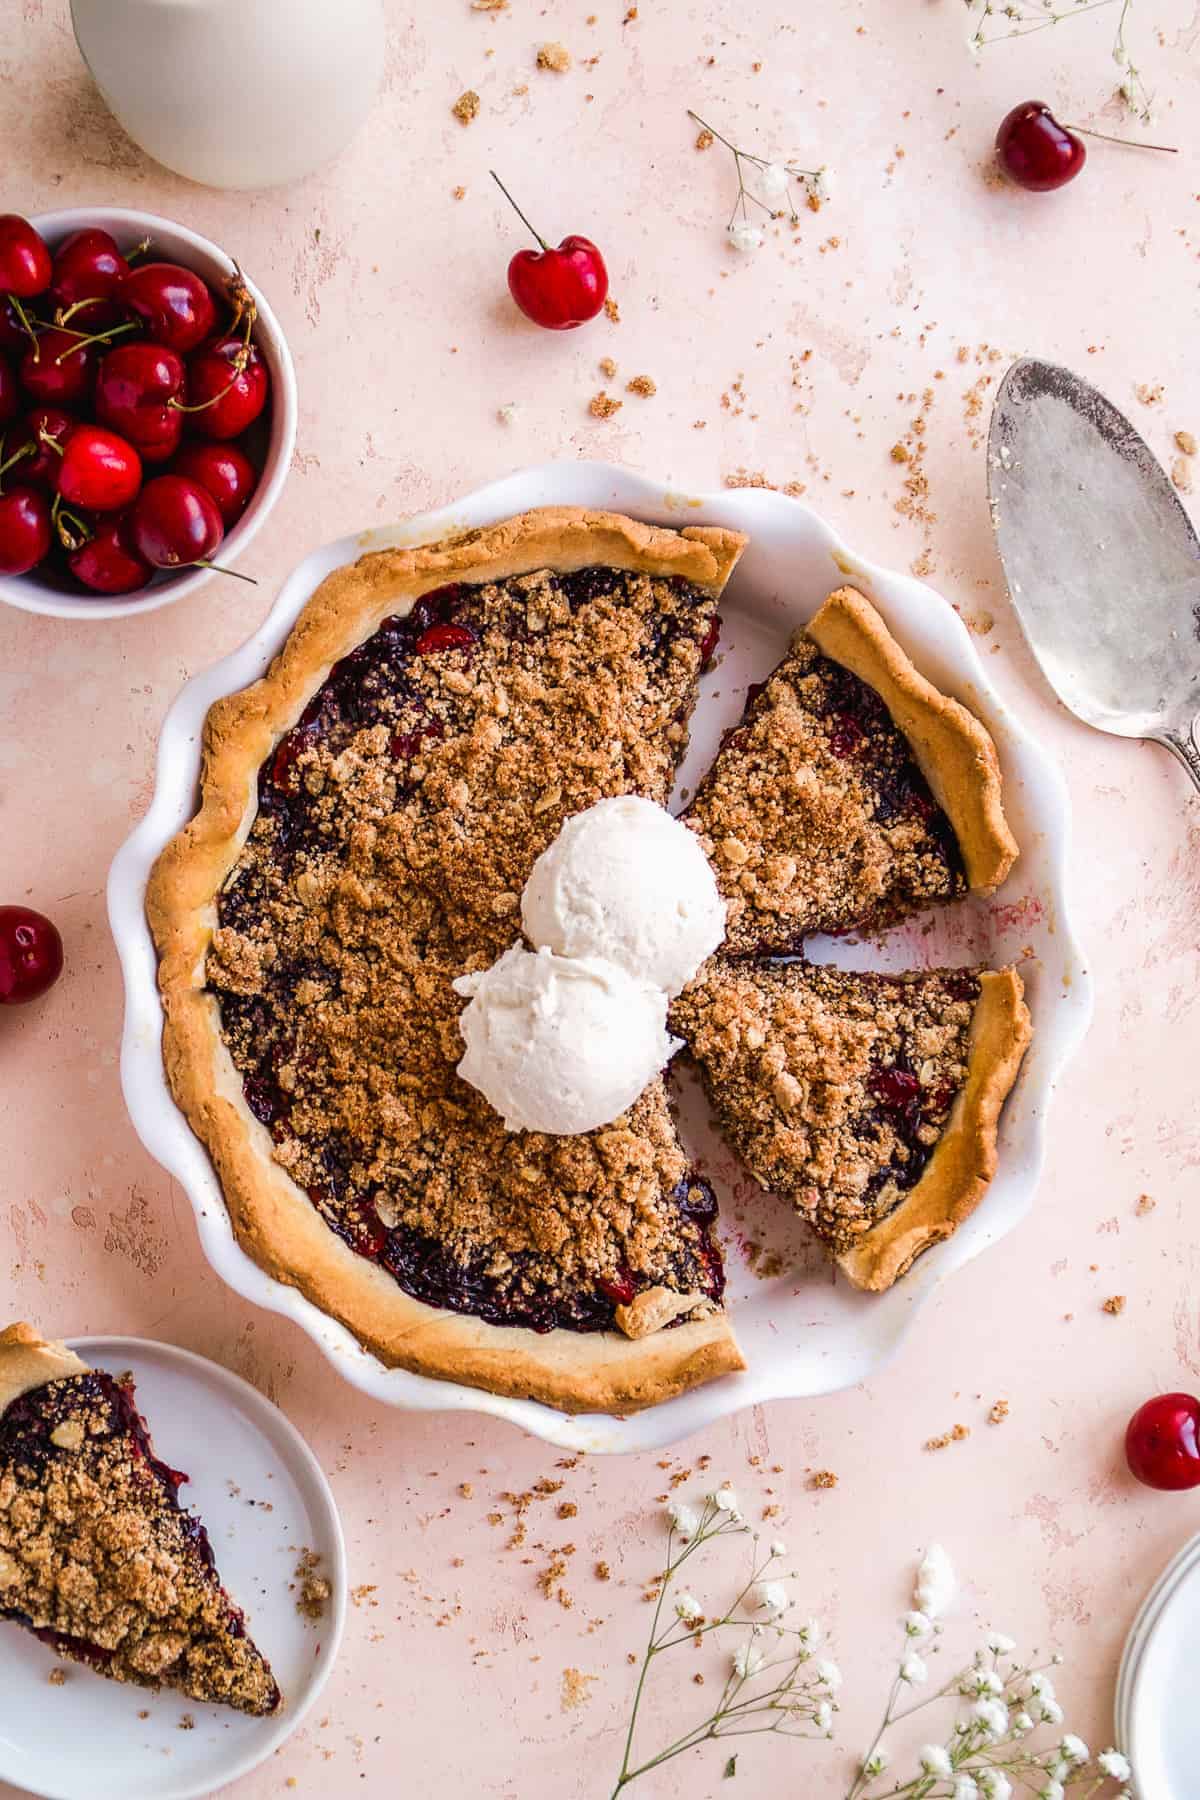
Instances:
[[[347,1598],[333,1494],[295,1426],[228,1370],[142,1337],[76,1337],[72,1350],[113,1375],[133,1370],[155,1451],[191,1476],[180,1499],[203,1519],[218,1573],[245,1607],[284,1703],[270,1719],[248,1719],[106,1681],[0,1624],[0,1780],[47,1800],[201,1800],[277,1750],[333,1669]],[[318,1624],[300,1616],[290,1591],[302,1550],[320,1555],[333,1588]],[[61,1687],[50,1683],[54,1667],[67,1670]]]

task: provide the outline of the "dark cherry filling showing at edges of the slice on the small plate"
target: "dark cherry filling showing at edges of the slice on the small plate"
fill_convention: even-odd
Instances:
[[[70,1454],[50,1442],[50,1433],[65,1420],[81,1415],[88,1424],[97,1415],[108,1415],[108,1436],[124,1438],[131,1458],[146,1469],[146,1476],[162,1489],[167,1505],[180,1516],[182,1530],[196,1555],[209,1571],[214,1588],[219,1588],[212,1544],[201,1521],[180,1507],[178,1490],[187,1481],[180,1469],[171,1469],[160,1456],[146,1427],[146,1420],[133,1404],[133,1384],[119,1382],[104,1370],[88,1370],[85,1375],[67,1375],[61,1381],[32,1388],[9,1402],[0,1417],[0,1465],[23,1467],[34,1476]],[[245,1615],[239,1606],[221,1589],[227,1606],[228,1629],[236,1638],[245,1636]],[[76,1638],[61,1631],[40,1629],[32,1625],[18,1607],[0,1606],[0,1618],[13,1618],[27,1625],[43,1643],[81,1656],[103,1669],[112,1661],[113,1652],[86,1638]]]

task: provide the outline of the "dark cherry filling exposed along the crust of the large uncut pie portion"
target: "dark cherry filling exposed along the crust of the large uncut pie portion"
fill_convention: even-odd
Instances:
[[[621,569],[594,565],[556,574],[554,580],[576,612],[588,601],[619,594],[630,578]],[[682,580],[673,580],[671,587],[689,607],[705,603],[705,596]],[[471,655],[486,644],[489,632],[525,635],[524,619],[518,616],[511,623],[486,625],[479,594],[479,587],[452,583],[423,594],[403,617],[385,619],[372,637],[331,668],[297,724],[281,738],[259,769],[259,815],[273,823],[272,850],[284,866],[291,864],[299,851],[320,841],[315,808],[297,769],[306,749],[327,743],[336,754],[358,731],[376,724],[390,725],[399,706],[421,706],[421,689],[410,673],[414,657]],[[648,632],[648,659],[666,668],[676,637],[685,632],[685,616],[658,614]],[[702,643],[702,662],[712,657],[718,635],[720,625],[712,619]],[[389,749],[396,761],[412,761],[426,743],[444,734],[443,720],[430,715],[428,722],[408,731],[392,731]],[[234,931],[246,929],[261,916],[261,880],[252,868],[239,869],[218,902],[221,925]],[[219,995],[227,1033],[239,1044],[246,1105],[277,1138],[286,1134],[291,1107],[277,1078],[279,1069],[295,1058],[295,1044],[284,1035],[290,997],[300,979],[320,974],[327,976],[320,965],[291,963],[270,972],[263,994],[245,997],[221,992]],[[250,1067],[243,1046],[248,1046]],[[649,1285],[649,1278],[626,1269],[617,1280],[597,1283],[594,1292],[561,1294],[529,1280],[520,1256],[511,1258],[511,1271],[498,1280],[484,1273],[482,1258],[464,1265],[444,1246],[419,1231],[385,1226],[371,1199],[354,1190],[351,1168],[363,1161],[356,1145],[326,1143],[320,1156],[326,1181],[311,1186],[308,1193],[326,1224],[360,1256],[387,1269],[405,1292],[432,1307],[470,1312],[491,1325],[520,1325],[536,1332],[554,1328],[596,1332],[612,1330],[613,1307],[628,1305],[640,1287]],[[675,1190],[673,1201],[693,1229],[671,1278],[682,1292],[700,1291],[720,1301],[725,1271],[720,1251],[709,1238],[716,1220],[716,1197],[707,1181],[689,1175]]]

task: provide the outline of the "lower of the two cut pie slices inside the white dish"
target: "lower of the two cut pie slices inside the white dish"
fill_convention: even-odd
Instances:
[[[882,976],[714,956],[671,1030],[754,1179],[878,1292],[995,1174],[1029,1042],[1022,992],[1013,968]]]

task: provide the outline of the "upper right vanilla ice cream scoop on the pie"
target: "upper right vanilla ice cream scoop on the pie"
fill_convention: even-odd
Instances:
[[[725,936],[725,902],[694,833],[622,794],[567,819],[525,882],[522,923],[556,956],[603,956],[675,995]]]

